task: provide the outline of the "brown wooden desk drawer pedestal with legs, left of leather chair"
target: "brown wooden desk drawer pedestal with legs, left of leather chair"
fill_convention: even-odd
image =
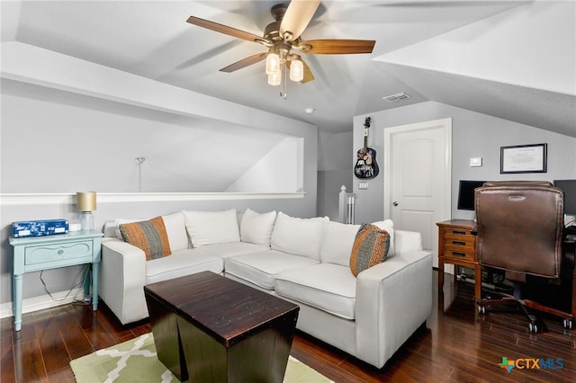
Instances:
[[[482,272],[476,258],[476,222],[450,219],[438,222],[438,291],[444,287],[444,263],[474,269],[474,296],[481,298]]]

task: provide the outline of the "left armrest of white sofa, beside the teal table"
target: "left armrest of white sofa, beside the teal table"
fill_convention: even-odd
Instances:
[[[122,325],[148,317],[144,298],[146,255],[116,238],[102,244],[100,296]]]

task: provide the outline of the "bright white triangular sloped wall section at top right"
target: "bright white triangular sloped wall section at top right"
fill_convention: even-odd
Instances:
[[[575,12],[573,1],[527,2],[378,59],[573,95]]]

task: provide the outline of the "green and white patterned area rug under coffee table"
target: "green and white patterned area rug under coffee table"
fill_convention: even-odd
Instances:
[[[70,367],[78,383],[172,383],[179,381],[157,359],[151,333],[70,361]],[[331,380],[291,356],[284,382],[315,383],[331,382]]]

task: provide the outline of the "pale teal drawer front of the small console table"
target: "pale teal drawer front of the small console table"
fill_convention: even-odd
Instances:
[[[78,258],[86,258],[87,262],[92,262],[92,246],[92,241],[28,246],[24,250],[24,264],[78,260]]]

